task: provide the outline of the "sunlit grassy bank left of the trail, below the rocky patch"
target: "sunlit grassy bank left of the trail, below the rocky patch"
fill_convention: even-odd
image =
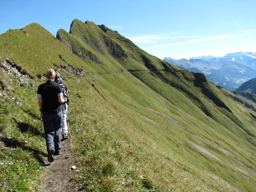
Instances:
[[[33,191],[42,179],[40,162],[40,121],[34,109],[35,90],[31,86],[21,88],[14,76],[10,80],[2,72],[3,80],[10,88],[13,99],[0,97],[0,146],[17,150],[0,151],[0,190]],[[18,103],[23,103],[21,106]],[[28,144],[25,145],[24,141]]]

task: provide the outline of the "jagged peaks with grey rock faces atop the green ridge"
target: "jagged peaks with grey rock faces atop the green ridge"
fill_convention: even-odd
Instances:
[[[68,36],[68,38],[64,40],[63,36]],[[128,56],[119,44],[107,36],[104,30],[100,30],[93,22],[86,21],[84,23],[75,19],[72,21],[69,34],[64,30],[59,30],[56,37],[68,46],[74,54],[87,57],[96,63],[102,64],[102,61],[92,53],[93,51],[110,54],[116,58],[126,58]]]

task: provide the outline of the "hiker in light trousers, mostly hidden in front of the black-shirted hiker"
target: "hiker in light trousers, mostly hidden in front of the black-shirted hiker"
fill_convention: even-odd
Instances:
[[[65,82],[63,82],[60,74],[57,70],[55,70],[55,82],[62,86],[63,96],[67,99],[67,102],[62,104],[62,139],[66,140],[68,138],[68,125],[67,125],[67,112],[68,112],[68,86]]]

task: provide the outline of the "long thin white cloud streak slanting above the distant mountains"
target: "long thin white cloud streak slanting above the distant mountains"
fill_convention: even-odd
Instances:
[[[224,34],[224,35],[212,36],[212,37],[207,37],[207,38],[200,38],[200,39],[182,41],[182,42],[177,42],[177,43],[151,46],[151,47],[145,48],[144,50],[160,48],[160,47],[169,47],[169,46],[175,46],[175,45],[184,45],[184,44],[190,44],[190,43],[196,43],[196,42],[212,41],[212,40],[218,40],[218,39],[228,39],[228,38],[235,38],[235,37],[236,36],[233,35],[233,34]]]

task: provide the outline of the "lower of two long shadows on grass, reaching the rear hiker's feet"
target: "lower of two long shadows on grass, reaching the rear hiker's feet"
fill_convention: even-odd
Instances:
[[[2,135],[0,135],[0,141],[3,142],[4,146],[7,148],[16,149],[19,147],[19,148],[22,148],[22,150],[27,150],[27,151],[32,152],[34,158],[38,160],[38,162],[41,164],[41,166],[47,166],[47,164],[44,162],[44,160],[40,156],[39,150],[36,150],[30,146],[26,146],[24,143],[20,142],[19,140],[4,137]],[[45,154],[44,152],[42,152],[42,155],[44,157],[47,156],[47,154]]]

